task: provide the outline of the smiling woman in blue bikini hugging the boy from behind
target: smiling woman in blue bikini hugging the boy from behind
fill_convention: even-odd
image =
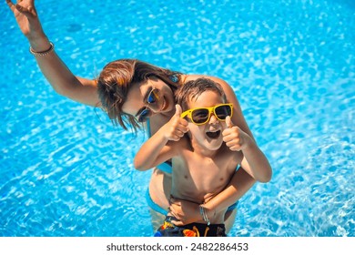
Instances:
[[[46,37],[35,11],[34,0],[17,1],[16,5],[9,0],[6,3],[28,39],[30,51],[38,66],[56,92],[88,106],[102,107],[114,123],[123,128],[127,128],[127,124],[133,128],[143,126],[149,134],[155,133],[174,114],[174,89],[200,77],[172,72],[132,59],[109,63],[97,80],[74,76],[56,55],[54,45]],[[208,77],[223,87],[228,101],[234,105],[233,123],[252,136],[233,89],[217,77]],[[208,213],[214,213],[230,207],[254,183],[255,180],[243,169],[236,171],[228,187],[218,196],[209,198],[205,208]],[[155,229],[156,222],[164,219],[167,208],[180,219],[179,224],[188,224],[201,217],[196,204],[183,200],[170,200],[169,203],[170,189],[168,164],[158,166],[153,171],[147,196]],[[236,209],[231,209],[226,215],[227,230],[233,225],[235,214]]]

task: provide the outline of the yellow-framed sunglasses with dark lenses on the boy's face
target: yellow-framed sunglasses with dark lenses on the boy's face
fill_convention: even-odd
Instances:
[[[233,104],[221,104],[215,107],[201,107],[184,111],[181,117],[189,117],[195,125],[203,125],[208,123],[211,113],[213,113],[218,120],[226,121],[226,117],[232,117]]]

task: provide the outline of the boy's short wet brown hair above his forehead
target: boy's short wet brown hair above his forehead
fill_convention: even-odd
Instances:
[[[175,91],[175,98],[177,104],[181,106],[182,111],[186,111],[188,110],[188,102],[197,98],[206,91],[216,92],[223,98],[224,102],[227,102],[227,97],[223,91],[223,88],[217,82],[206,77],[190,80],[183,86],[178,87]]]

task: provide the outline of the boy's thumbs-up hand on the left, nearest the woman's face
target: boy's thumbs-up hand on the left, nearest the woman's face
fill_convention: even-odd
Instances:
[[[182,109],[176,105],[176,112],[165,125],[165,137],[170,141],[178,141],[188,132],[188,121],[181,118]]]

